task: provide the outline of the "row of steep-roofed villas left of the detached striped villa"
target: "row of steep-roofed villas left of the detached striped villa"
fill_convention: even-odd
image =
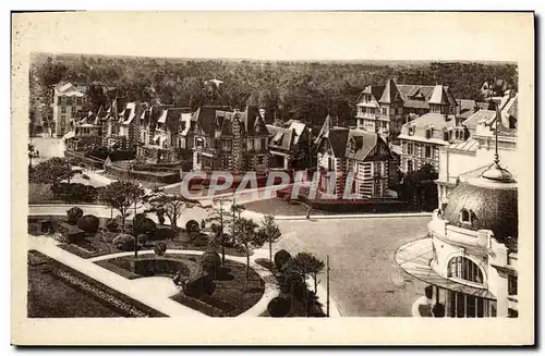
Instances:
[[[296,120],[266,125],[266,112],[225,106],[189,108],[116,98],[105,110],[66,124],[69,149],[98,146],[135,150],[153,163],[191,160],[194,170],[258,171],[308,168],[311,128]]]

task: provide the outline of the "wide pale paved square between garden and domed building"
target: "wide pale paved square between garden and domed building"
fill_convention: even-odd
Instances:
[[[404,242],[427,233],[427,217],[282,221],[276,250],[330,255],[331,296],[343,317],[410,317],[424,284],[393,260]],[[325,284],[325,275],[319,279]]]

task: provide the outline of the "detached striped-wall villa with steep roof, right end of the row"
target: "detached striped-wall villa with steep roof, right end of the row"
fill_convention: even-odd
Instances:
[[[389,163],[386,142],[376,133],[334,127],[328,115],[315,140],[318,188],[342,198],[384,198],[389,196]],[[349,191],[347,191],[347,188]]]

